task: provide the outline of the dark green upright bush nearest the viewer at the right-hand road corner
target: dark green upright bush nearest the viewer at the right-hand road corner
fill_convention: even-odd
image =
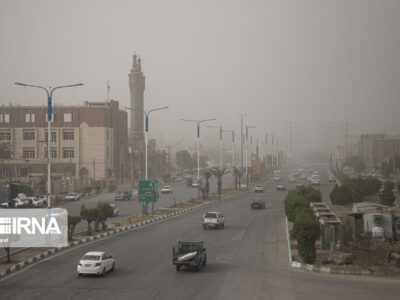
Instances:
[[[317,257],[315,241],[320,234],[320,226],[314,216],[310,216],[306,210],[299,210],[294,220],[292,236],[297,240],[299,255],[304,263],[314,263]]]

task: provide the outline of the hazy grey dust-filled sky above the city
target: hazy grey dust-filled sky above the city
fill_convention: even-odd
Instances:
[[[57,91],[55,103],[101,101],[109,80],[111,98],[129,106],[136,53],[145,107],[170,106],[150,121],[164,142],[194,138],[181,118],[217,118],[238,131],[238,113],[260,138],[293,121],[297,141],[310,146],[319,121],[399,133],[399,16],[398,0],[2,0],[0,103],[45,103],[15,81],[83,82]]]

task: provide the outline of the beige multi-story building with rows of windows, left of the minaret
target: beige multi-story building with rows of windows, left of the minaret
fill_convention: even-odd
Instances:
[[[114,100],[82,106],[53,106],[52,181],[127,179],[127,113]],[[47,107],[0,108],[0,177],[8,180],[47,176]],[[9,155],[8,155],[9,154]]]

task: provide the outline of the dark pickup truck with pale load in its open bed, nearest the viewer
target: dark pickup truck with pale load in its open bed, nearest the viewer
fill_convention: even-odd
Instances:
[[[203,242],[181,242],[172,248],[172,264],[180,271],[182,266],[200,270],[207,263],[207,252]]]

